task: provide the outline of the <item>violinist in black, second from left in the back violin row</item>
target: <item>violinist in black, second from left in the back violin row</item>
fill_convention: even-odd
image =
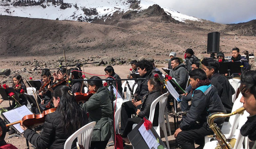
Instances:
[[[49,70],[45,70],[42,72],[42,78],[43,78],[43,82],[46,83],[46,86],[44,88],[45,92],[40,92],[39,95],[41,95],[41,107],[44,109],[46,109],[46,105],[48,104],[48,102],[51,100],[52,98],[52,93],[50,90],[47,90],[48,85],[52,84],[53,82],[53,77],[51,77],[51,73]],[[51,107],[53,108],[53,107]]]

